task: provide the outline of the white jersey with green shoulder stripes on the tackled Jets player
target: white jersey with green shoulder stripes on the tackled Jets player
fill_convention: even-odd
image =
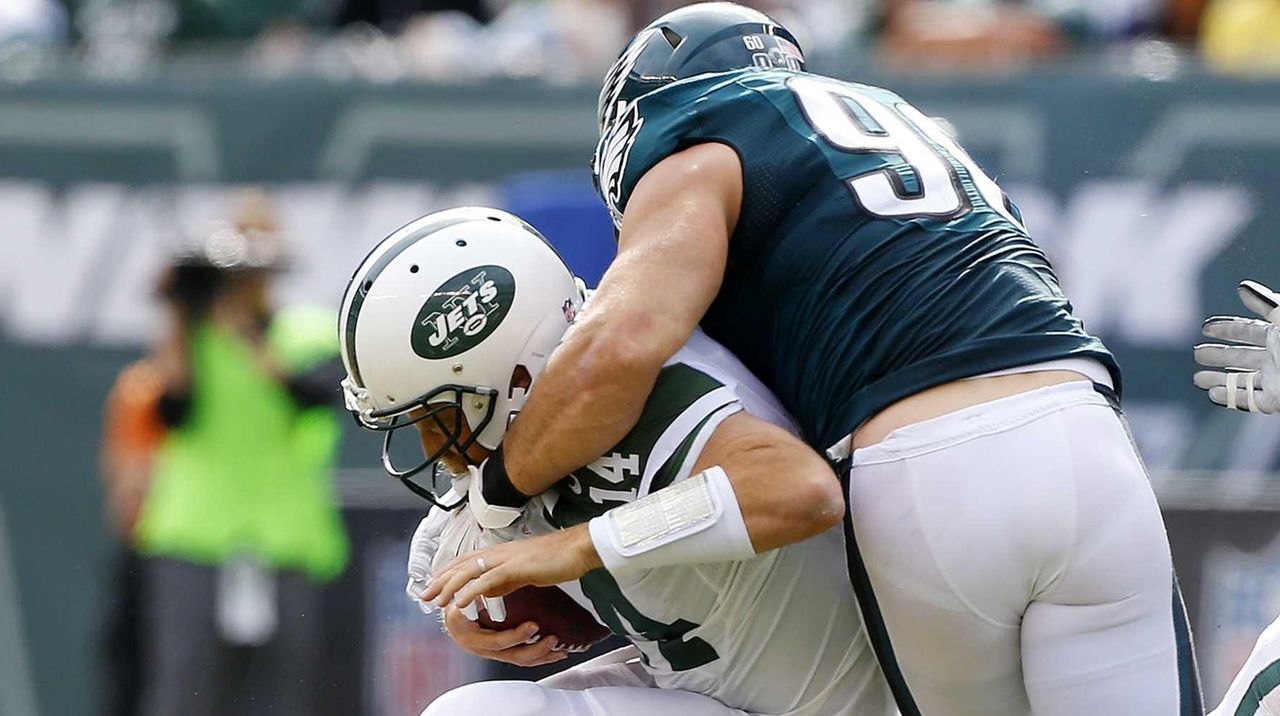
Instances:
[[[545,496],[552,520],[579,524],[687,478],[716,427],[739,410],[795,432],[737,359],[695,333],[667,362],[636,428]],[[786,479],[778,475],[780,491]],[[741,562],[625,579],[599,569],[579,584],[584,606],[631,639],[658,687],[753,713],[892,713],[840,528]]]

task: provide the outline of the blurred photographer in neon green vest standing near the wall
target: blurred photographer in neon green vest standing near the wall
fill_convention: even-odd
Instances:
[[[146,555],[142,713],[314,716],[319,583],[347,561],[330,485],[333,316],[273,313],[269,202],[180,255],[156,351],[168,428],[133,528]]]

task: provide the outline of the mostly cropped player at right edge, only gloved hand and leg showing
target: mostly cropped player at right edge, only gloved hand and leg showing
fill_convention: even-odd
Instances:
[[[1204,336],[1221,343],[1196,346],[1196,387],[1231,410],[1280,412],[1280,295],[1253,281],[1242,282],[1240,301],[1258,318],[1213,316]],[[1280,713],[1280,619],[1258,637],[1244,667],[1211,716]]]

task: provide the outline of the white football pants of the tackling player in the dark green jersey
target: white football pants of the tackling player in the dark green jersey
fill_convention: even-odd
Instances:
[[[1164,520],[1091,383],[895,430],[852,455],[849,503],[915,713],[1203,712]]]

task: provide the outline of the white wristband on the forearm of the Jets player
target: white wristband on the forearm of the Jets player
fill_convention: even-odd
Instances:
[[[614,575],[755,555],[733,485],[719,466],[614,507],[588,529],[604,569]]]

